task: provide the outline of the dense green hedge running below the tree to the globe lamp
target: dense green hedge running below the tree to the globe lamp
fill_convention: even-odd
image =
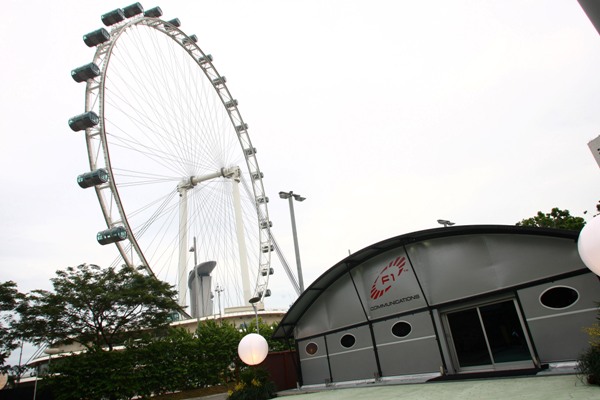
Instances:
[[[263,333],[263,325],[260,329]],[[149,398],[231,382],[237,382],[233,399],[271,398],[274,385],[267,372],[239,360],[237,346],[245,334],[214,320],[192,333],[172,328],[164,336],[130,340],[123,349],[53,358],[41,382],[56,400]]]

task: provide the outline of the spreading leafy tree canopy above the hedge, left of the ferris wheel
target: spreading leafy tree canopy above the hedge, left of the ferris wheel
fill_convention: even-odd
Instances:
[[[173,288],[132,267],[82,264],[57,271],[53,292],[34,290],[19,306],[21,335],[35,344],[106,348],[166,327],[178,310]]]

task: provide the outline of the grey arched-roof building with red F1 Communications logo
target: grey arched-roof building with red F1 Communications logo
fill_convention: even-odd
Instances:
[[[600,300],[577,237],[458,226],[384,240],[321,275],[275,337],[294,338],[303,385],[572,361]]]

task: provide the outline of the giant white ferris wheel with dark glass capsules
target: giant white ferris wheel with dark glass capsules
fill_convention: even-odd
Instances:
[[[181,307],[199,264],[219,312],[263,301],[273,245],[248,125],[197,37],[161,17],[139,3],[102,15],[106,28],[83,37],[92,62],[71,73],[86,83],[69,126],[85,131],[78,183],[95,188],[106,220],[98,242],[176,285]]]

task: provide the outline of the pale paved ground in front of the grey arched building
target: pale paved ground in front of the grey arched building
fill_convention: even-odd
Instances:
[[[600,386],[584,384],[576,375],[477,379],[419,384],[379,384],[325,388],[306,393],[289,390],[289,400],[600,400]]]

